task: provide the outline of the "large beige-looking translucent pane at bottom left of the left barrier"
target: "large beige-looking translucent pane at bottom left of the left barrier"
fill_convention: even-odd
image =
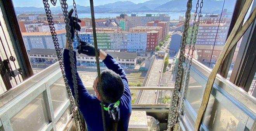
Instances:
[[[10,119],[14,131],[38,131],[48,121],[43,94],[36,97],[36,99]]]

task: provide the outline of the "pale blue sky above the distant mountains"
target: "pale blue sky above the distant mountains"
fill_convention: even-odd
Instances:
[[[118,1],[131,1],[133,3],[143,3],[149,0],[93,0],[94,6],[104,5],[107,3],[114,3]],[[43,7],[42,0],[12,0],[14,7]],[[50,0],[48,0],[50,3]],[[89,0],[75,0],[76,4],[83,6],[90,6]],[[73,0],[67,0],[68,5],[73,4]],[[59,0],[57,0],[57,6],[60,6]]]

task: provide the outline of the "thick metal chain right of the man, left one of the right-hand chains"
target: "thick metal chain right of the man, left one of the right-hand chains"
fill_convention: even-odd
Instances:
[[[187,43],[186,42],[187,35],[188,35],[187,30],[189,29],[189,20],[190,20],[191,9],[192,9],[192,0],[189,0],[187,2],[187,11],[186,11],[186,17],[185,17],[185,22],[184,22],[184,31],[182,34],[182,43],[180,45],[180,55],[179,55],[179,61],[178,61],[178,69],[177,69],[177,73],[176,73],[175,88],[174,88],[174,92],[173,92],[173,100],[171,103],[171,110],[169,113],[168,131],[170,131],[171,128],[174,127],[174,125],[176,123],[176,118],[177,118],[178,90],[180,89],[180,83],[181,83],[181,76],[182,76],[182,69],[183,69],[182,63],[184,60],[183,54],[185,53],[185,46]]]

